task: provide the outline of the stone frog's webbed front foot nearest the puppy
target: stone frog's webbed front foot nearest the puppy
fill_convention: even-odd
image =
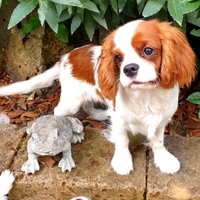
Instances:
[[[63,157],[60,160],[58,167],[62,169],[63,173],[66,170],[71,171],[71,169],[75,167],[75,163],[71,155],[71,145],[70,145],[70,149],[63,151],[62,154],[63,154]]]

